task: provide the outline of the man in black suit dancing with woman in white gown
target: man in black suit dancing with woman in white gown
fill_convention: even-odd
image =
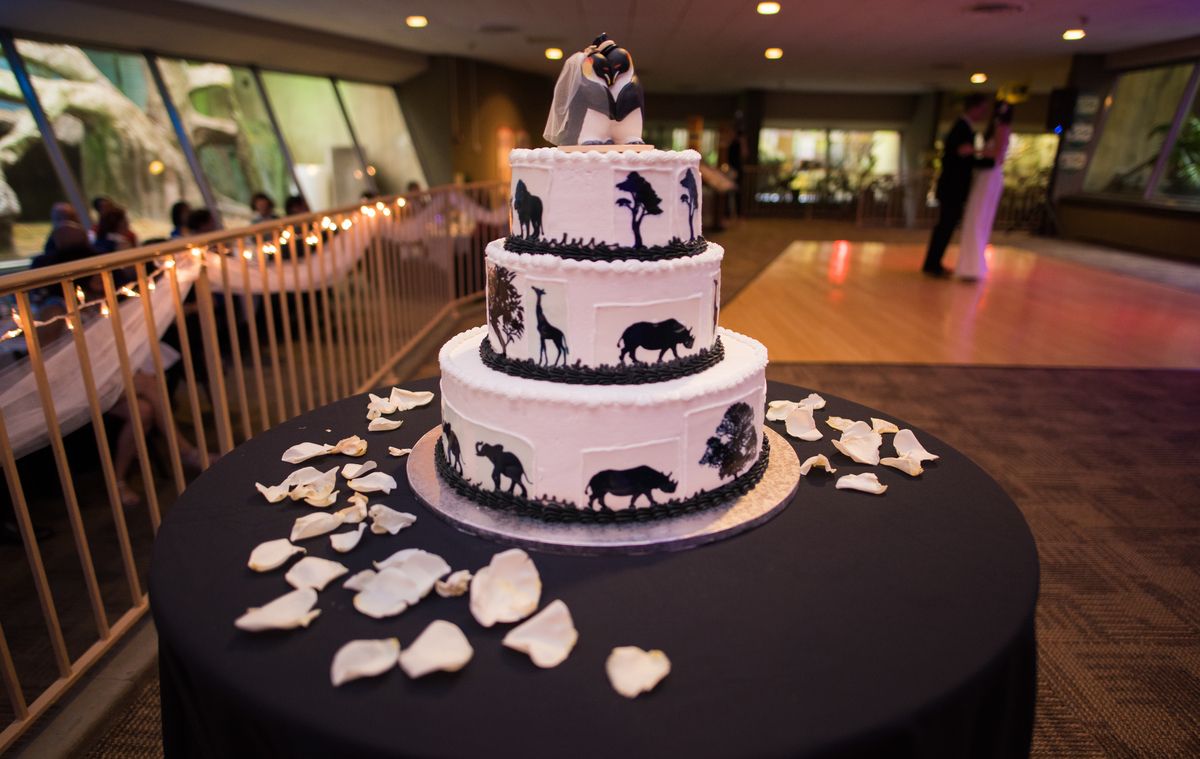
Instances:
[[[925,265],[922,271],[929,276],[946,276],[942,256],[950,244],[954,229],[962,221],[962,210],[971,192],[971,173],[976,167],[995,165],[991,159],[976,155],[974,125],[988,114],[988,97],[972,92],[962,100],[962,113],[946,135],[942,145],[942,174],[937,178],[937,225],[929,238]]]

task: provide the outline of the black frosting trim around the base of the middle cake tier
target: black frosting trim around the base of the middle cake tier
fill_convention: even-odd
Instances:
[[[646,351],[647,348],[641,349]],[[636,364],[583,366],[575,363],[569,366],[542,366],[532,358],[516,359],[500,355],[492,347],[492,341],[485,336],[479,343],[479,358],[488,369],[523,380],[542,380],[566,384],[648,384],[678,380],[715,366],[725,358],[725,346],[718,337],[712,348],[702,348],[698,353],[661,364],[638,361]]]

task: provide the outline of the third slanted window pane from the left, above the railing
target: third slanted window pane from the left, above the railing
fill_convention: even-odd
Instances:
[[[288,141],[296,181],[308,208],[358,203],[366,183],[334,83],[322,77],[265,71],[263,85],[283,139]]]

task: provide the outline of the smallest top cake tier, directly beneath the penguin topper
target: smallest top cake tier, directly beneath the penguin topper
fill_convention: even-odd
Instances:
[[[510,250],[601,258],[700,252],[695,150],[514,150]]]

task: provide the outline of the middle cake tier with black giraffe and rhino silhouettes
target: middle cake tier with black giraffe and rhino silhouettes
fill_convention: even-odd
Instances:
[[[487,246],[488,365],[562,382],[641,383],[720,355],[721,258],[709,243],[665,261],[576,261]]]

